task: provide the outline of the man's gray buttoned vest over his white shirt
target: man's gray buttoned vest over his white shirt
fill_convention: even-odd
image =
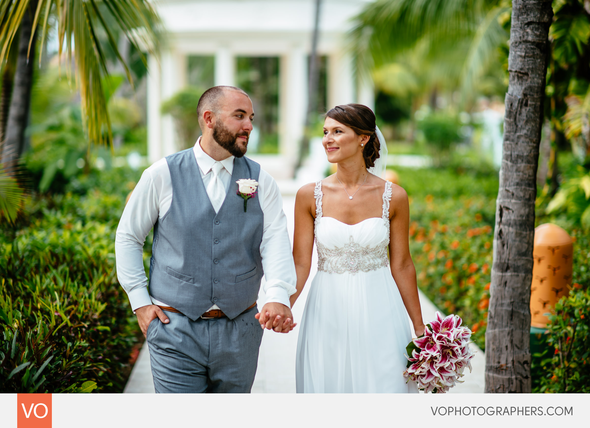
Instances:
[[[236,180],[258,180],[260,165],[234,159],[219,212],[211,205],[192,149],[166,157],[172,204],[153,228],[149,292],[191,320],[217,304],[232,319],[258,298],[264,215],[258,197],[237,195]]]

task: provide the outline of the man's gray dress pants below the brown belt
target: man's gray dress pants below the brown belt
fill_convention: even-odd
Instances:
[[[147,342],[156,393],[250,393],[263,330],[257,308],[230,320],[204,320],[165,312],[155,318]]]

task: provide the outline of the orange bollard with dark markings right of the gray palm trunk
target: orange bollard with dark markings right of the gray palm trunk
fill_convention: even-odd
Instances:
[[[572,283],[572,238],[552,223],[535,228],[533,281],[530,286],[530,325],[545,328],[555,303]]]

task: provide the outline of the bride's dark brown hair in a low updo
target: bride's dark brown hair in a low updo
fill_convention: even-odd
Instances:
[[[379,137],[375,132],[375,113],[371,108],[362,104],[345,104],[328,110],[326,117],[333,118],[335,121],[348,126],[357,135],[368,135],[369,141],[363,147],[365,166],[367,168],[375,166],[375,160],[379,157],[381,143],[379,143]]]

